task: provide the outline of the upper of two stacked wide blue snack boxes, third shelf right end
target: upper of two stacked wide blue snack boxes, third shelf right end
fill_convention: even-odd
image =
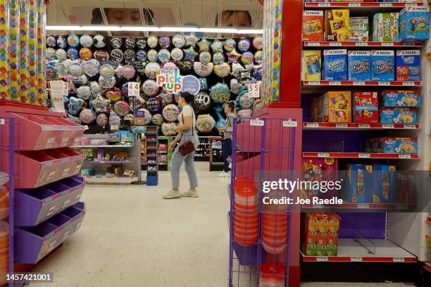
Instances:
[[[418,108],[422,106],[422,96],[420,90],[385,90],[382,91],[382,106]]]

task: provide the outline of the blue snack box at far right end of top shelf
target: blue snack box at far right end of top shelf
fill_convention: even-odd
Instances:
[[[430,11],[427,6],[407,6],[399,13],[399,40],[427,40],[430,37]]]

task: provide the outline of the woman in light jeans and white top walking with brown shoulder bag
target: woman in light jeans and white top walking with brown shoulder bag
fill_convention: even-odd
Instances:
[[[197,136],[196,129],[194,124],[196,123],[196,116],[194,115],[194,110],[192,106],[190,106],[194,101],[194,96],[187,92],[180,94],[178,99],[178,106],[182,108],[180,115],[178,115],[178,121],[180,125],[176,127],[176,131],[180,132],[170,144],[169,148],[175,148],[175,145],[178,141],[180,141],[180,145],[186,143],[187,141],[192,141],[194,148],[197,148],[199,144],[199,139]],[[182,162],[185,162],[185,170],[187,172],[187,176],[189,177],[190,189],[183,193],[180,193],[180,167]],[[172,156],[172,160],[170,160],[170,178],[172,179],[172,189],[168,191],[163,198],[180,198],[183,197],[198,197],[196,187],[197,176],[196,170],[194,169],[194,151],[189,153],[188,155],[181,155],[180,151],[178,151],[178,147],[175,148],[175,151]]]

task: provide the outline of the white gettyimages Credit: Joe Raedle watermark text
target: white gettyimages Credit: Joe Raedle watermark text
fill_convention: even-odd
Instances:
[[[327,193],[327,191],[338,192],[342,189],[342,179],[337,181],[306,181],[296,179],[294,181],[289,179],[278,179],[277,181],[263,181],[263,193],[269,193],[268,196],[263,197],[263,204],[276,204],[276,205],[342,205],[343,200],[337,196],[329,198],[320,198],[319,196],[312,196],[311,198],[303,198],[298,195],[296,198],[287,196],[287,193],[294,191],[318,191],[320,193]],[[316,192],[314,192],[316,194]]]

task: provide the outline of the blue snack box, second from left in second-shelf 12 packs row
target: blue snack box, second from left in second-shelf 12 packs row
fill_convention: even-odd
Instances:
[[[349,79],[371,79],[371,51],[349,51]]]

